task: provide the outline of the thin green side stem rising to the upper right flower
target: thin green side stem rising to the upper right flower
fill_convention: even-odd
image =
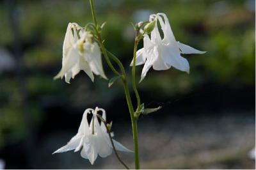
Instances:
[[[137,36],[138,36],[138,31],[136,31],[136,36],[135,36],[135,40],[134,40],[133,63],[132,63],[132,87],[133,87],[134,93],[137,98],[137,111],[138,111],[140,109],[140,95],[139,95],[138,89],[136,87],[136,77],[135,77],[135,74],[136,74],[136,66],[135,66],[136,65],[136,52],[137,52],[137,47],[138,47],[138,43],[139,43]]]

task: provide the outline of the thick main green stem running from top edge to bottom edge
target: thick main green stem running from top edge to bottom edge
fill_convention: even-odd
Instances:
[[[92,9],[93,22],[95,24],[95,27],[97,27],[97,19],[96,19],[96,15],[95,15],[93,0],[90,0],[90,6],[91,6],[91,9]],[[116,69],[114,68],[114,66],[112,65],[111,61],[109,61],[107,50],[104,47],[104,44],[103,44],[103,42],[100,38],[99,31],[97,31],[97,36],[98,36],[98,39],[99,39],[100,48],[102,49],[102,53],[103,53],[104,58],[106,59],[106,61],[108,63],[108,66],[111,68],[111,70],[116,75],[120,75],[120,73],[117,72]],[[136,45],[136,47],[137,47],[137,45]],[[132,106],[132,101],[131,101],[131,96],[130,96],[130,92],[129,92],[129,88],[128,88],[128,84],[127,84],[127,77],[125,75],[124,66],[122,65],[120,60],[118,58],[116,58],[116,56],[114,56],[110,52],[108,52],[108,53],[110,54],[109,56],[111,57],[111,59],[113,59],[118,64],[118,66],[120,67],[120,70],[122,72],[122,82],[123,82],[123,86],[124,86],[124,90],[125,90],[125,97],[126,97],[126,100],[127,100],[127,105],[129,107],[129,112],[130,112],[131,121],[132,121],[132,134],[133,134],[134,155],[135,155],[135,169],[140,169],[140,159],[139,159],[139,150],[138,150],[138,130],[137,130],[138,129],[137,128],[137,121],[138,120],[134,116],[134,109],[133,109],[133,106]],[[138,91],[137,91],[137,93],[138,93]],[[137,95],[136,95],[136,97],[137,97]],[[119,160],[119,158],[118,158],[118,160]]]

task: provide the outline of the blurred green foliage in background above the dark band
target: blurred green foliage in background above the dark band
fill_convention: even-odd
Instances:
[[[130,69],[134,36],[129,22],[137,21],[136,12],[166,13],[178,41],[207,51],[204,55],[186,56],[190,75],[173,68],[148,72],[139,88],[168,98],[186,95],[207,82],[238,84],[244,88],[254,85],[255,11],[246,6],[248,2],[95,0],[95,5],[99,22],[106,21],[103,30],[106,47],[124,61],[127,70]],[[26,0],[17,1],[17,8],[28,93],[25,102],[32,123],[44,118],[45,112],[40,105],[44,97],[62,98],[73,107],[84,107],[93,103],[111,105],[113,99],[122,96],[122,87],[114,84],[117,89],[107,90],[108,82],[100,79],[92,84],[84,73],[79,73],[71,84],[52,81],[61,68],[62,43],[68,22],[82,26],[92,22],[88,1]],[[6,4],[0,5],[0,45],[12,52],[15,37],[10,29],[8,9]],[[141,68],[138,67],[138,79]],[[111,78],[107,66],[104,69]],[[0,147],[13,134],[17,138],[24,137],[24,101],[20,99],[20,84],[14,75],[15,70],[0,75]]]

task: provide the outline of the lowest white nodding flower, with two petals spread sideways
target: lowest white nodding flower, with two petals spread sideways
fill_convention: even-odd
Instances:
[[[91,164],[96,160],[98,154],[100,157],[108,157],[112,153],[112,145],[109,139],[107,129],[103,122],[99,123],[97,118],[97,112],[102,112],[102,118],[106,120],[106,112],[104,109],[98,107],[93,109],[86,109],[83,114],[83,119],[81,121],[80,127],[77,134],[72,137],[72,139],[67,143],[67,145],[61,147],[60,149],[54,151],[54,153],[61,153],[65,151],[81,150],[81,157],[90,160]],[[87,116],[88,113],[92,112],[92,120],[90,125],[88,124]],[[113,134],[111,134],[113,137]],[[113,139],[115,149],[119,151],[131,151],[122,144],[118,143]],[[52,153],[52,154],[54,154]]]

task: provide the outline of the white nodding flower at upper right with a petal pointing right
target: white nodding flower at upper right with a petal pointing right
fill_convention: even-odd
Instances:
[[[151,37],[149,38],[148,35],[144,35],[144,47],[136,53],[136,65],[145,63],[140,81],[145,78],[151,66],[153,66],[154,70],[167,70],[173,66],[178,70],[189,73],[188,60],[180,56],[180,54],[203,54],[205,52],[177,42],[172,33],[168,18],[164,13],[150,15],[149,21],[153,23],[155,20],[159,20],[164,38],[162,39],[160,36],[157,22],[151,32]]]

